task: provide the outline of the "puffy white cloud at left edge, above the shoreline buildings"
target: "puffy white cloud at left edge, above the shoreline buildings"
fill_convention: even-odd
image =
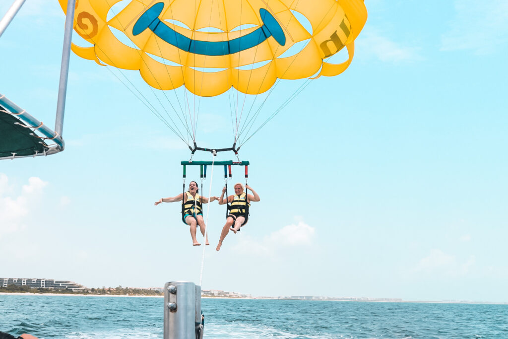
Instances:
[[[46,181],[30,177],[28,184],[21,188],[19,196],[9,196],[8,194],[14,194],[12,192],[15,189],[9,186],[7,175],[0,173],[0,236],[25,228],[23,219],[28,214],[31,203],[39,199],[46,185]]]

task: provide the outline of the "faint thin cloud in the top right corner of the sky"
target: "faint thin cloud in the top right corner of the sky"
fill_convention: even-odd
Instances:
[[[487,54],[506,42],[506,0],[456,0],[455,10],[450,31],[441,36],[441,50],[473,49],[477,54]]]

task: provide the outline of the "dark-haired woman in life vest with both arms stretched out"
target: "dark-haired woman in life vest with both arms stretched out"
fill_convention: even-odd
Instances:
[[[202,197],[198,194],[198,183],[196,181],[190,181],[189,190],[185,193],[180,193],[176,197],[172,198],[161,198],[155,201],[154,205],[157,206],[162,202],[175,202],[182,201],[182,222],[190,226],[190,236],[192,237],[193,246],[201,245],[196,239],[197,225],[201,234],[205,236],[205,221],[203,220],[203,206],[208,202],[218,200],[217,197]],[[206,244],[208,243],[208,237],[206,238]]]

